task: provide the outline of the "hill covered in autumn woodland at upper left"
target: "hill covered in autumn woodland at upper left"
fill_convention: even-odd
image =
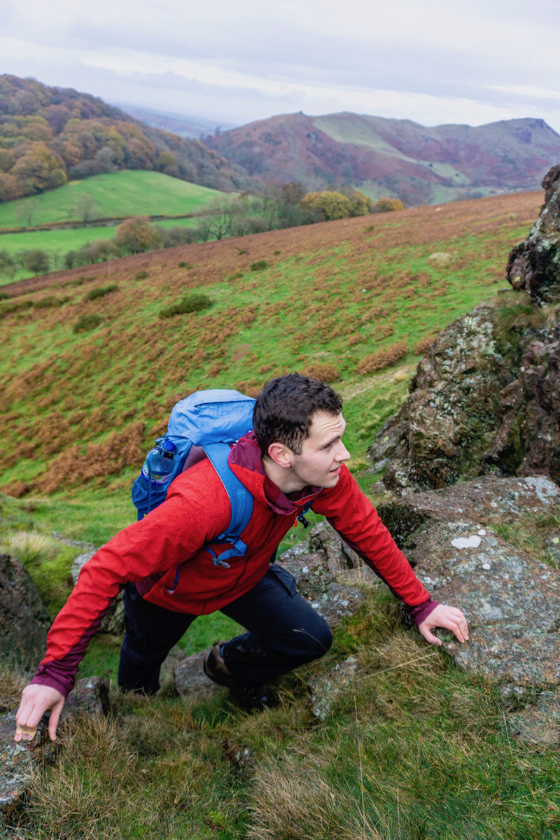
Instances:
[[[199,141],[139,123],[90,94],[0,76],[0,201],[122,169],[226,192],[251,183]]]

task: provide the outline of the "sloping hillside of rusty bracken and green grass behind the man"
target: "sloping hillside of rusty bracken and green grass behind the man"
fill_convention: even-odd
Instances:
[[[504,255],[541,202],[526,193],[413,208],[374,224],[344,219],[186,245],[5,286],[15,297],[0,302],[0,486],[83,494],[88,483],[117,480],[124,491],[180,396],[224,386],[255,393],[294,369],[343,388],[359,473],[417,354],[505,286]],[[212,307],[158,318],[189,291]],[[397,361],[404,372],[384,379]]]

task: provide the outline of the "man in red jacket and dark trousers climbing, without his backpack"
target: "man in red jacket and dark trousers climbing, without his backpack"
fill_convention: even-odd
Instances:
[[[197,615],[220,610],[247,630],[215,644],[204,670],[228,685],[243,706],[266,706],[270,680],[322,656],[332,641],[327,623],[297,594],[293,577],[270,562],[308,503],[404,601],[428,642],[441,644],[434,627],[451,630],[459,642],[468,639],[463,612],[430,599],[344,464],[350,456],[343,444],[342,407],[332,388],[300,374],[264,386],[254,408],[254,431],[233,445],[228,460],[254,496],[241,535],[248,547],[244,557],[220,564],[224,546],[212,544],[228,528],[231,507],[208,459],[177,476],[160,507],[94,554],[55,618],[47,655],[24,689],[16,741],[34,738],[48,710],[55,739],[87,643],[122,588],[127,630],[118,685],[123,690],[158,690],[160,665],[170,648]]]

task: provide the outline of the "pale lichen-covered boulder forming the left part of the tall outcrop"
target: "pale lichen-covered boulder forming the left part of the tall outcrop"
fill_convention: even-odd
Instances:
[[[492,307],[476,307],[439,333],[418,365],[410,396],[369,449],[385,486],[427,490],[479,474],[500,428],[500,392],[514,376],[495,340]]]

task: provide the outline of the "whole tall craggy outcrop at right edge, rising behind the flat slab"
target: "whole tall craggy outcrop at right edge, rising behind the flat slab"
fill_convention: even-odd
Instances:
[[[395,493],[491,473],[560,482],[560,166],[543,186],[541,216],[510,255],[517,291],[439,333],[369,449]]]

